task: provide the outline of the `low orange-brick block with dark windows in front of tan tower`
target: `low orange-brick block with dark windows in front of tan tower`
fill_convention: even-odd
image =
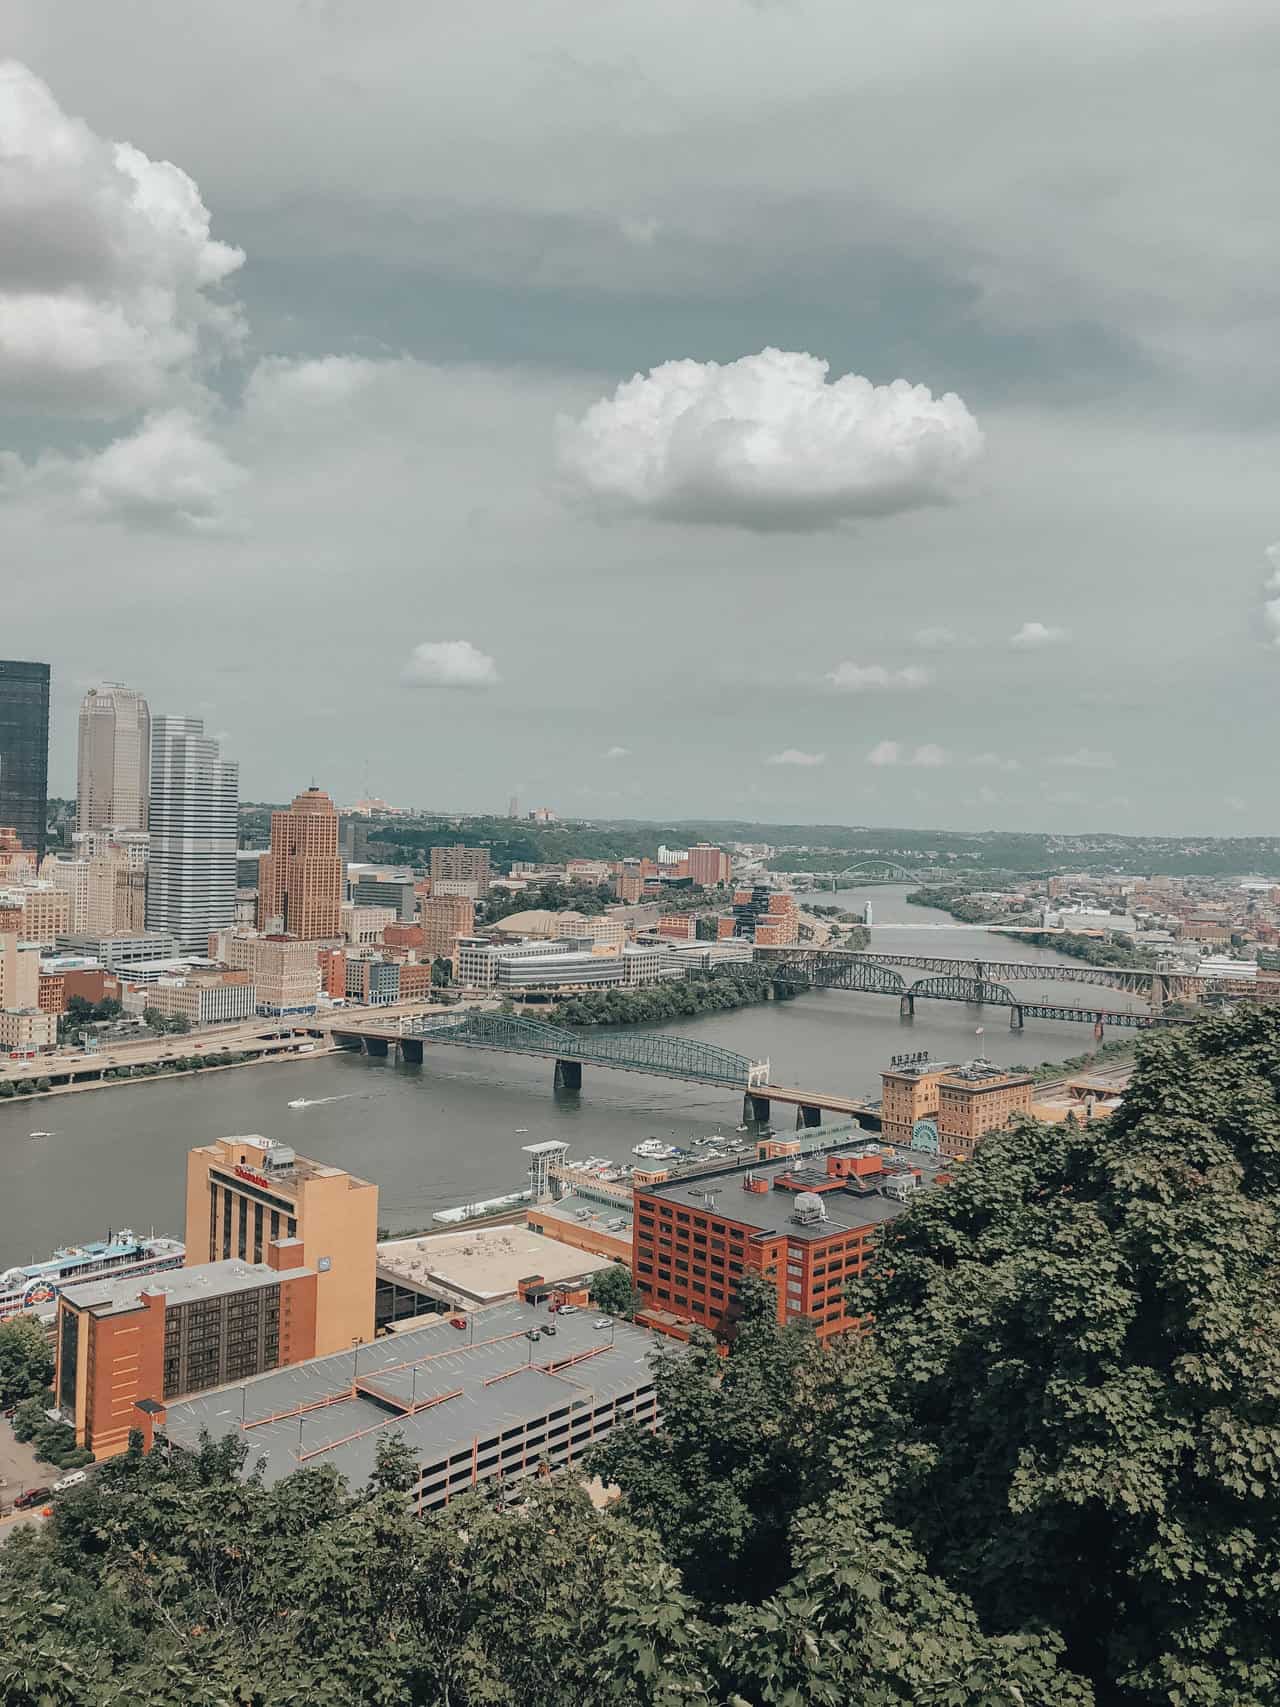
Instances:
[[[189,1251],[188,1251],[189,1255]],[[317,1275],[295,1239],[266,1261],[196,1263],[63,1287],[55,1395],[94,1458],[128,1446],[145,1407],[244,1381],[316,1355]]]

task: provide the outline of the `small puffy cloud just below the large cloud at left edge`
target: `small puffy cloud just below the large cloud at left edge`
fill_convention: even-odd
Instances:
[[[90,514],[198,533],[220,524],[222,500],[246,478],[186,410],[148,415],[84,461],[79,476]]]

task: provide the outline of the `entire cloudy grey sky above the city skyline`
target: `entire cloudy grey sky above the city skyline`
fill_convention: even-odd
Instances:
[[[253,801],[1280,831],[1268,0],[9,0],[0,55],[53,792],[119,679]]]

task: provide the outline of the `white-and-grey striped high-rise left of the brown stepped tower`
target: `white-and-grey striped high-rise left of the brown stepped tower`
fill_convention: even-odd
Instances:
[[[152,722],[147,929],[188,954],[207,954],[210,930],[236,920],[239,770],[203,717]]]

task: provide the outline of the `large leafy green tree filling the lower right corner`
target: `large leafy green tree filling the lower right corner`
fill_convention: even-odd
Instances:
[[[1145,1040],[1104,1127],[988,1139],[853,1297],[848,1485],[1106,1700],[1280,1700],[1278,1086],[1270,1011]]]

